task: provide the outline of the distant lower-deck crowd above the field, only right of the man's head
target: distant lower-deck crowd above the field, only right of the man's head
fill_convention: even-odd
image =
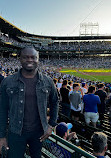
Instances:
[[[88,58],[70,58],[70,59],[40,59],[42,65],[56,68],[110,68],[110,57],[88,57]]]

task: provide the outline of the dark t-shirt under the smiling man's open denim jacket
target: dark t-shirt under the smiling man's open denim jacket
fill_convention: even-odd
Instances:
[[[25,104],[24,104],[24,120],[23,131],[43,132],[36,96],[37,76],[34,78],[25,78],[22,76],[25,83]]]

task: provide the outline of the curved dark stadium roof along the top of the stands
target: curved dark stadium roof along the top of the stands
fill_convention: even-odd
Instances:
[[[9,36],[25,36],[25,37],[34,37],[34,38],[44,38],[44,39],[51,39],[51,40],[100,40],[100,39],[111,39],[111,36],[41,36],[30,34],[24,32],[20,28],[16,27],[15,25],[11,24],[3,17],[0,16],[0,30],[2,33],[8,34]]]

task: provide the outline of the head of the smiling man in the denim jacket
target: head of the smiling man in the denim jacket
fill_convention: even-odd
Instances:
[[[26,48],[21,52],[20,62],[24,70],[33,71],[38,67],[39,54],[33,48]]]

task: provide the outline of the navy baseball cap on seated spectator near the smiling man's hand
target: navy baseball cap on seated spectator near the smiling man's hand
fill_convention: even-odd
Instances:
[[[65,132],[67,132],[68,126],[65,122],[61,122],[56,127],[56,134],[60,137],[63,137],[65,135]]]

